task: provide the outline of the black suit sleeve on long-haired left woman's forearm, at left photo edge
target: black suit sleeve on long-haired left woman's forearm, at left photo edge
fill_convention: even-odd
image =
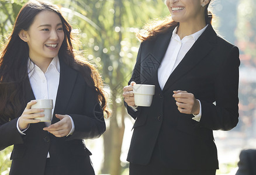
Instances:
[[[0,150],[13,144],[23,143],[22,135],[19,133],[16,124],[18,118],[0,125]]]

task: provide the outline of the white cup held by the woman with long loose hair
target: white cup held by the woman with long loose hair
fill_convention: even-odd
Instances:
[[[44,117],[37,117],[34,119],[40,120],[41,122],[51,121],[51,110],[53,109],[53,100],[52,99],[39,99],[36,101],[37,101],[37,103],[33,104],[31,106],[31,108],[44,109],[43,112],[39,113],[39,114],[44,114]]]

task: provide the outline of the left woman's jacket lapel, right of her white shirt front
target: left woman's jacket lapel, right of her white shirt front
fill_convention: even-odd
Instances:
[[[60,83],[58,84],[54,114],[63,114],[65,108],[67,108],[77,79],[77,74],[77,71],[68,67],[60,58]],[[51,123],[53,124],[57,121],[59,120],[54,115]]]

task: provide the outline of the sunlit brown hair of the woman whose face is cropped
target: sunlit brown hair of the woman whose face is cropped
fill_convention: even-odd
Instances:
[[[210,2],[213,0],[210,0],[209,3],[207,3],[205,8],[205,22],[206,24],[212,24],[213,15],[212,12],[208,10]],[[151,23],[146,24],[146,26],[143,27],[143,31],[136,33],[136,37],[140,42],[146,41],[146,40],[152,40],[156,36],[162,33],[167,33],[172,28],[175,28],[179,25],[178,22],[175,22],[172,20],[171,16],[165,17],[164,20],[154,20]]]

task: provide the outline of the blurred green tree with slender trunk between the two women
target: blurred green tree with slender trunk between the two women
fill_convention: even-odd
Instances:
[[[56,1],[60,2],[61,1]],[[139,31],[150,18],[169,14],[163,0],[77,0],[61,3],[68,20],[81,32],[82,50],[102,71],[109,86],[112,117],[104,138],[105,162],[102,173],[121,174],[120,154],[124,134],[123,86],[127,85],[136,60]],[[72,12],[70,11],[72,10]],[[74,13],[75,12],[75,13]]]

